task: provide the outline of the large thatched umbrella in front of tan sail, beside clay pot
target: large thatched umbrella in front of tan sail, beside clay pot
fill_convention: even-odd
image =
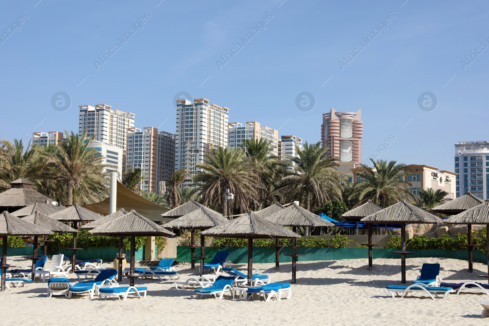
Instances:
[[[103,225],[89,231],[90,234],[106,237],[131,237],[131,269],[128,277],[131,279],[131,286],[134,286],[134,252],[135,238],[139,237],[172,237],[175,233],[159,226],[148,218],[137,214],[134,210],[131,213],[113,219]]]

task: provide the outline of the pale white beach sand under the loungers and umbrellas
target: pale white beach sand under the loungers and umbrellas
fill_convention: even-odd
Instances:
[[[460,283],[487,274],[487,266],[474,263],[467,272],[467,261],[454,259],[407,259],[407,280],[416,279],[423,262],[440,262],[445,282]],[[8,262],[27,266],[22,257]],[[111,263],[104,264],[110,267]],[[290,282],[291,264],[254,264],[255,273],[267,273],[272,282]],[[191,273],[189,264],[179,265],[182,279]],[[234,267],[234,266],[233,266]],[[245,269],[244,264],[236,265]],[[72,279],[72,281],[75,281]],[[366,259],[342,261],[304,261],[297,264],[297,284],[292,298],[280,302],[197,300],[193,290],[176,290],[173,283],[136,280],[148,287],[146,299],[128,298],[99,301],[88,295],[46,298],[46,283],[37,281],[24,287],[10,287],[0,293],[0,325],[488,325],[480,317],[479,301],[489,296],[477,293],[448,295],[445,300],[428,297],[393,299],[385,290],[400,284],[399,259],[375,259],[368,271]],[[414,294],[416,296],[417,293]]]

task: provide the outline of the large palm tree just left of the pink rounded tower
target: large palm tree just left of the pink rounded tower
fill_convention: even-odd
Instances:
[[[294,174],[282,179],[282,197],[304,201],[308,211],[325,201],[341,199],[341,183],[346,179],[335,169],[337,158],[325,157],[328,149],[321,147],[321,142],[306,142],[302,151],[296,145],[295,151],[296,157],[286,155],[295,168]]]

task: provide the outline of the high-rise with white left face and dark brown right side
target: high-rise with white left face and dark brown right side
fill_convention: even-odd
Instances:
[[[129,128],[127,136],[126,166],[140,168],[144,180],[140,189],[164,193],[166,181],[174,172],[175,135],[154,127]]]

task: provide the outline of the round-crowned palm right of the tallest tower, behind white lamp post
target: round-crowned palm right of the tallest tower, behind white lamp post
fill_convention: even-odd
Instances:
[[[230,207],[236,207],[240,212],[249,210],[256,196],[257,176],[247,168],[244,157],[241,149],[217,147],[205,155],[203,164],[197,164],[196,167],[203,171],[197,172],[194,181],[199,186],[196,192],[204,205],[218,205],[222,214],[226,214],[224,191],[229,189],[235,198],[231,199]]]

